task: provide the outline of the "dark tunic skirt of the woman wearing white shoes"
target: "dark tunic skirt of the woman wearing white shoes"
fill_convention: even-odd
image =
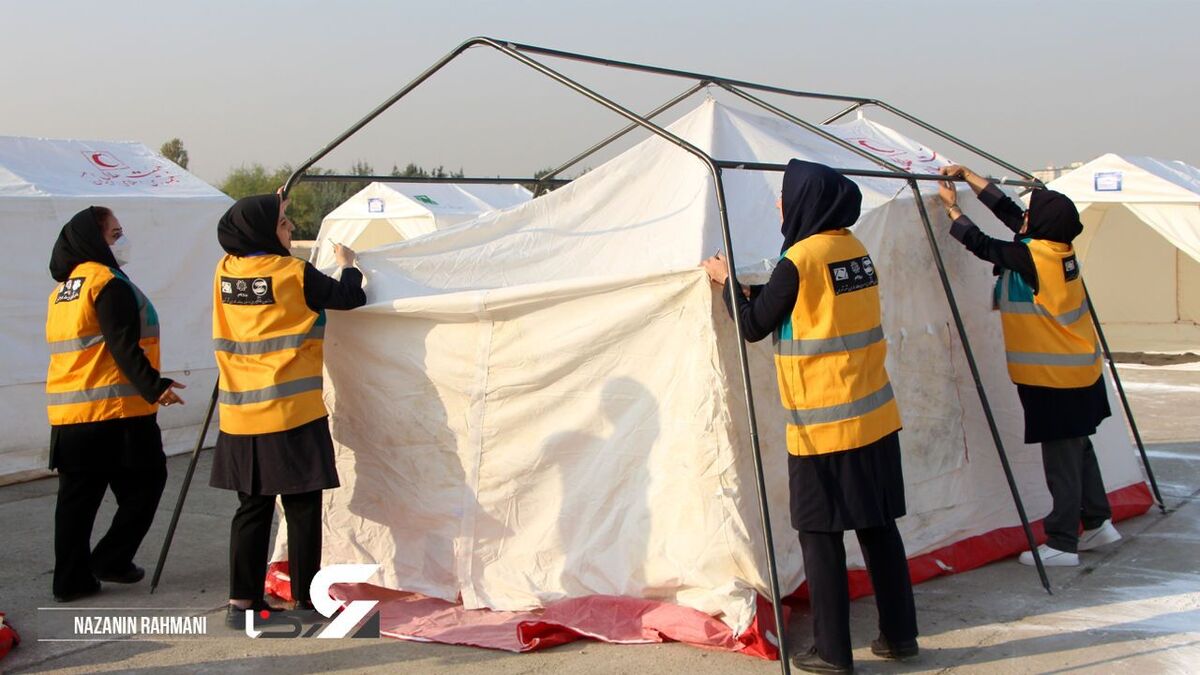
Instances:
[[[1026,443],[1091,436],[1112,414],[1103,374],[1091,387],[1054,389],[1018,384],[1016,394],[1025,408]]]

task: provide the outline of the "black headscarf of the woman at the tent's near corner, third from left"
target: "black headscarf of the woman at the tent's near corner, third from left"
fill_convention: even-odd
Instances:
[[[863,193],[853,180],[803,160],[787,162],[782,198],[784,251],[818,232],[854,225],[863,207]]]

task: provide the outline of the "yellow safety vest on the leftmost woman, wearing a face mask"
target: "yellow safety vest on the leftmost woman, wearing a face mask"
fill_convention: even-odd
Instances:
[[[137,286],[119,269],[86,262],[50,293],[46,310],[46,341],[50,368],[46,374],[46,411],[50,424],[80,424],[154,414],[116,366],[100,331],[96,297],[114,279],[128,283],[138,303],[138,345],[158,370],[158,313]]]

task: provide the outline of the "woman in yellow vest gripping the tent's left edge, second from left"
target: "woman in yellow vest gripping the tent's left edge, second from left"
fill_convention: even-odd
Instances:
[[[227,256],[212,279],[212,347],[221,432],[214,488],[236,490],[229,532],[227,623],[266,609],[263,584],[275,498],[288,532],[288,572],[298,609],[320,567],[320,491],[338,486],[322,400],[325,310],[366,304],[354,251],[335,246],[341,280],[290,256],[292,221],[278,195],[239,199],[221,217]]]

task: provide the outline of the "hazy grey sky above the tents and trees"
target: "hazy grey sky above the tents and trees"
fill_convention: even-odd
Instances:
[[[1200,2],[5,5],[0,133],[152,148],[179,136],[214,183],[301,162],[473,35],[872,96],[1026,168],[1106,151],[1200,163]],[[638,109],[686,86],[563,68]],[[539,77],[474,50],[322,166],[529,174],[622,124]]]

